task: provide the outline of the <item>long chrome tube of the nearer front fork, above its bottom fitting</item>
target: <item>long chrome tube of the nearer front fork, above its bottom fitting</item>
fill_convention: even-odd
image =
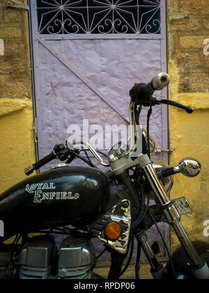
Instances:
[[[148,163],[148,159],[146,160]],[[144,162],[142,163],[142,165],[143,164]],[[169,200],[169,197],[165,192],[161,182],[157,178],[157,175],[151,163],[148,163],[144,166],[142,165],[140,167],[142,167],[144,170],[144,174],[146,175],[146,178],[148,179],[150,186],[155,193],[155,197],[160,203],[165,218],[167,219],[168,223],[172,225],[173,230],[176,232],[178,239],[185,249],[185,253],[187,253],[187,255],[189,256],[192,264],[194,266],[199,266],[201,264],[201,259],[196,253],[196,250],[189,237],[187,236],[183,225],[180,223],[180,215],[178,213],[178,210],[176,209],[176,206],[173,204],[173,202],[171,202],[171,200]]]

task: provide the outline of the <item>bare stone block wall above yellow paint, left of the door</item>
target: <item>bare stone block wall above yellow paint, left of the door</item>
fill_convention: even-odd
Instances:
[[[26,1],[1,0],[0,98],[31,98],[31,61],[27,10],[10,8]]]

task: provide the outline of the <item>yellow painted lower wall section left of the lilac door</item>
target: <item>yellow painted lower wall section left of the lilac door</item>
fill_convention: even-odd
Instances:
[[[31,100],[0,99],[0,193],[26,178],[23,170],[36,161]]]

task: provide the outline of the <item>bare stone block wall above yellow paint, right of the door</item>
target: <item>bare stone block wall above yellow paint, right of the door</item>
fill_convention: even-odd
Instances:
[[[209,92],[208,0],[168,1],[169,59],[179,70],[179,91]]]

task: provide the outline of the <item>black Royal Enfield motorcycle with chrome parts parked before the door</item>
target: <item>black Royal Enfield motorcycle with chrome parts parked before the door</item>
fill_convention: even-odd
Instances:
[[[130,264],[134,239],[138,245],[137,279],[141,250],[154,279],[209,279],[209,244],[190,241],[180,222],[183,214],[192,212],[192,206],[185,197],[169,199],[173,176],[197,176],[201,164],[194,158],[184,158],[177,166],[169,167],[150,159],[155,151],[155,141],[149,134],[152,108],[167,104],[189,114],[194,111],[171,100],[153,98],[155,90],[167,87],[169,82],[169,75],[160,73],[148,84],[134,84],[130,89],[130,140],[127,144],[118,142],[104,154],[106,161],[88,142],[59,144],[24,172],[29,176],[54,159],[61,163],[29,176],[0,195],[0,218],[5,230],[0,237],[1,279],[102,279],[94,268],[107,250],[111,253],[108,279],[117,280]],[[139,128],[142,107],[149,107],[146,131]],[[137,141],[142,147],[136,155]],[[87,150],[111,170],[102,172],[93,165]],[[82,151],[86,156],[81,155]],[[86,166],[70,166],[75,158]],[[151,199],[155,199],[152,206]],[[171,225],[181,243],[173,255],[160,232],[160,222]],[[153,225],[169,256],[166,266],[157,261],[157,249],[148,243],[146,231]],[[38,235],[30,236],[33,233]],[[56,246],[55,234],[65,236],[60,246]],[[13,243],[6,244],[11,237]],[[92,239],[104,243],[98,256]],[[122,269],[128,253],[130,257]]]

